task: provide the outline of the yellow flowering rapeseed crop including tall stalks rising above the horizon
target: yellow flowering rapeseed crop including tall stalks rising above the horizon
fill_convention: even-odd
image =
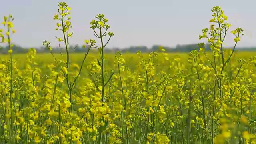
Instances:
[[[15,26],[4,18],[0,37],[10,49],[0,55],[0,144],[256,143],[256,53],[236,52],[243,30],[230,28],[220,7],[210,20],[218,26],[199,36],[209,52],[200,44],[190,53],[105,54],[114,34],[104,15],[92,20],[96,38],[85,40],[84,53],[69,53],[70,8],[58,6],[62,54],[47,41],[49,53],[13,53]],[[230,31],[234,48],[225,49]]]

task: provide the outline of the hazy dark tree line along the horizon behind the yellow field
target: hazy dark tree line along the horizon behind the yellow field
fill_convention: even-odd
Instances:
[[[113,53],[117,51],[122,51],[122,52],[130,52],[130,53],[136,53],[137,51],[141,52],[151,52],[151,51],[157,51],[160,45],[154,45],[151,48],[148,48],[147,46],[130,46],[128,48],[105,48],[105,52],[107,53]],[[72,53],[80,53],[80,52],[85,52],[86,48],[82,48],[82,46],[79,45],[72,45],[69,47],[70,52]],[[190,52],[191,50],[198,50],[199,46],[198,44],[184,44],[184,45],[177,45],[175,48],[171,47],[166,47],[163,46],[163,48],[166,50],[166,52]],[[0,47],[0,54],[8,54],[8,46],[5,47]],[[12,47],[12,50],[14,53],[27,53],[28,48],[23,48],[18,45],[14,45]],[[50,52],[47,48],[40,47],[36,48],[38,53],[48,53]],[[206,44],[205,45],[205,50],[210,51],[210,45]],[[251,48],[238,48],[237,50],[239,51],[256,51],[256,47],[251,47]],[[97,52],[98,50],[92,50],[93,52]],[[63,49],[61,48],[52,48],[53,53],[61,53],[64,52]]]

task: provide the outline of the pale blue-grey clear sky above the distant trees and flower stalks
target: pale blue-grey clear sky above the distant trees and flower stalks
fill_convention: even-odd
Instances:
[[[0,18],[12,14],[17,33],[13,41],[26,47],[41,46],[44,40],[58,45],[55,36],[58,0],[1,0]],[[220,6],[228,16],[231,29],[244,28],[238,46],[256,46],[256,0],[64,0],[71,7],[74,35],[70,44],[96,39],[90,22],[98,13],[105,14],[115,36],[108,47],[148,46],[203,42],[202,28],[210,26],[213,6]],[[2,28],[2,26],[0,26]],[[232,34],[226,46],[232,46]],[[96,39],[97,40],[97,39]],[[98,41],[98,40],[97,40]],[[99,42],[99,41],[98,41]]]

